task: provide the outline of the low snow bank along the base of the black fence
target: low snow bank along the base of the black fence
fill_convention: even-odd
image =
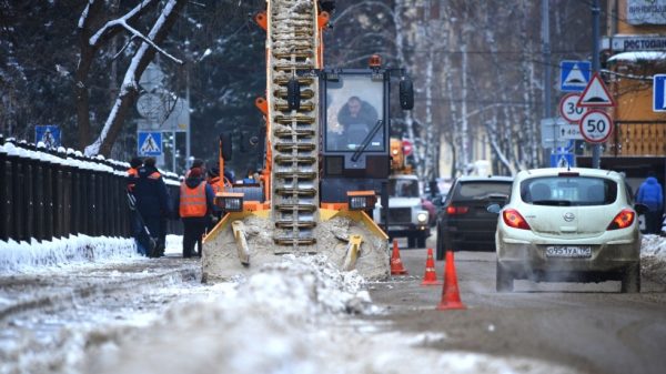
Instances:
[[[31,272],[40,266],[139,257],[133,239],[70,235],[39,242],[0,241],[0,274]]]

